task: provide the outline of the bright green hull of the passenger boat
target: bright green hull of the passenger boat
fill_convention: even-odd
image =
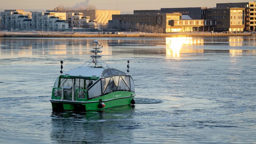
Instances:
[[[88,110],[100,110],[105,108],[113,108],[123,105],[131,104],[134,99],[135,93],[126,91],[111,92],[107,95],[100,96],[98,98],[90,99],[87,101],[68,101],[52,99],[52,110],[74,110],[74,111],[88,111]],[[100,108],[100,102],[105,104],[104,108]]]

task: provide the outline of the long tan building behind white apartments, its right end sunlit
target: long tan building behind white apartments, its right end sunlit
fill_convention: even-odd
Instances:
[[[112,10],[51,10],[46,12],[82,12],[84,16],[90,17],[90,20],[97,20],[98,24],[107,25],[108,20],[112,20],[113,14],[120,14],[120,11]]]

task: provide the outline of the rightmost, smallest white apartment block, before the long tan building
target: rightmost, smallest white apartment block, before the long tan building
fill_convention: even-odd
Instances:
[[[90,17],[84,16],[82,12],[67,12],[66,21],[69,28],[87,28]]]

